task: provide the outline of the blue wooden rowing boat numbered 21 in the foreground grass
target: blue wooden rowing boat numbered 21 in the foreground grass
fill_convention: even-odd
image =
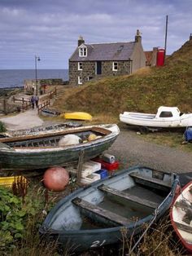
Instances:
[[[40,228],[74,251],[95,249],[122,241],[158,220],[172,203],[177,174],[134,166],[80,188],[63,198]]]

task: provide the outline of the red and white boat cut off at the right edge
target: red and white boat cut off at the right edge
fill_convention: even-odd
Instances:
[[[192,181],[174,199],[170,218],[181,244],[192,254]]]

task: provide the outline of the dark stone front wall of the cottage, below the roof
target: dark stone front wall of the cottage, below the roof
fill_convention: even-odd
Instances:
[[[82,61],[82,70],[78,70],[78,62],[69,61],[69,84],[78,85],[78,77],[81,77],[82,84],[97,77],[118,76],[131,73],[130,61],[115,61],[118,64],[118,69],[113,71],[113,61],[102,61],[102,73],[95,74],[95,61]]]

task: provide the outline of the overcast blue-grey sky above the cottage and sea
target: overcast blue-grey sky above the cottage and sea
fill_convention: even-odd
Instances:
[[[131,42],[177,51],[192,33],[192,0],[0,0],[0,69],[68,68],[79,35],[87,43]]]

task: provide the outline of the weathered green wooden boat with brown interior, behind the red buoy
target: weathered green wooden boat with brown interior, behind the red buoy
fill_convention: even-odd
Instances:
[[[81,151],[84,152],[84,159],[88,160],[107,150],[119,132],[119,127],[113,124],[2,138],[0,169],[35,170],[50,166],[68,166],[78,161]],[[90,134],[96,135],[96,139],[88,141]],[[77,135],[83,142],[59,146],[59,140],[66,135]]]

